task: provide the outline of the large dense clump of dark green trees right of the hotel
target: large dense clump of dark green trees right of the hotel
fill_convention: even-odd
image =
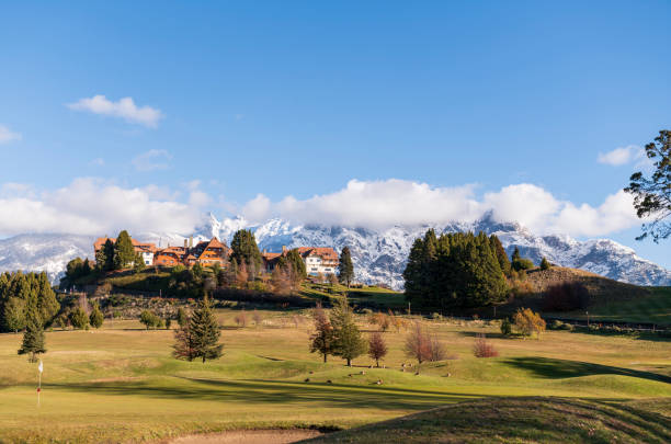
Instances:
[[[502,301],[508,285],[492,241],[485,234],[433,230],[417,239],[403,272],[406,298],[417,306],[447,309]]]

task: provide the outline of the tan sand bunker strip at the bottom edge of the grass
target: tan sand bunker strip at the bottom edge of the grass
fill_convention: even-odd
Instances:
[[[221,433],[186,435],[168,444],[287,444],[319,436],[318,430],[232,430]]]

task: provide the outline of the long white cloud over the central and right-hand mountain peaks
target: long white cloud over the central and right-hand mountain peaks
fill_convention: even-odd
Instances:
[[[519,221],[534,232],[578,237],[605,236],[640,223],[630,195],[623,191],[606,196],[599,206],[576,205],[528,183],[477,198],[474,185],[436,187],[396,179],[352,180],[343,190],[303,201],[287,196],[273,203],[259,194],[241,208],[241,214],[254,221],[282,217],[300,224],[368,228],[473,221],[487,212],[501,221]]]

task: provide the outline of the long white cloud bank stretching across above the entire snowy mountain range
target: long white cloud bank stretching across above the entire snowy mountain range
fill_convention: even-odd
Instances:
[[[432,186],[405,180],[350,181],[345,187],[306,200],[272,202],[259,194],[243,205],[220,202],[250,221],[281,217],[296,224],[365,228],[474,221],[491,212],[500,221],[519,221],[535,234],[600,237],[640,224],[630,195],[618,191],[598,205],[555,197],[541,186],[521,183],[476,194],[475,185]],[[21,183],[0,185],[0,236],[69,232],[100,236],[192,234],[215,201],[193,181],[178,190],[148,185],[123,187],[100,179],[77,179],[55,191]]]

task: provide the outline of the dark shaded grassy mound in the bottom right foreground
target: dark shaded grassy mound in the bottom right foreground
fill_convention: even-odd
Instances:
[[[671,401],[487,398],[331,433],[307,443],[668,443]]]

